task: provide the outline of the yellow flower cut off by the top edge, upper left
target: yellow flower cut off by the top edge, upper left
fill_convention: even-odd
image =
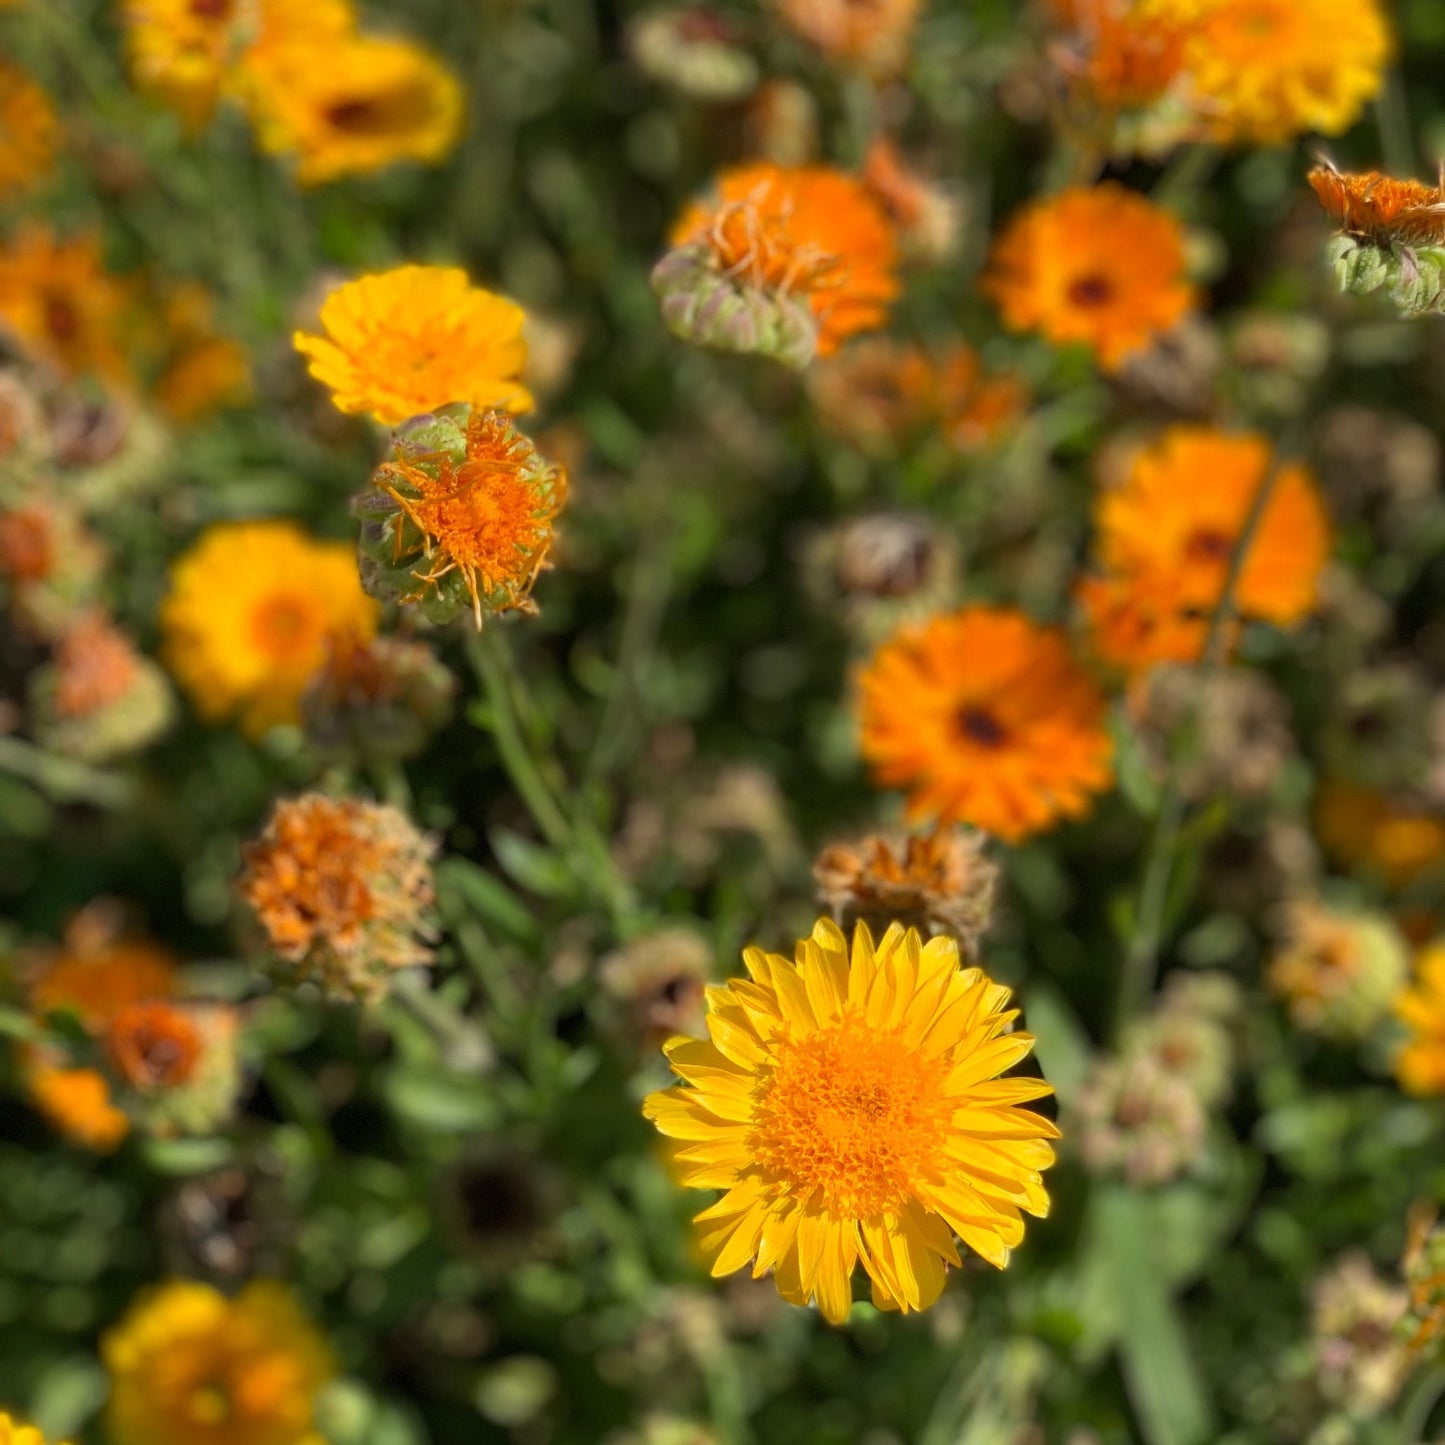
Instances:
[[[198,130],[225,87],[251,0],[124,0],[126,55],[137,90]]]

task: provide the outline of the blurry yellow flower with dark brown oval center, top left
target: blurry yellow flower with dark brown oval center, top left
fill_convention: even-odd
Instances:
[[[279,45],[251,59],[244,84],[263,149],[293,155],[302,185],[436,162],[461,134],[457,77],[407,40],[353,36],[321,55]]]

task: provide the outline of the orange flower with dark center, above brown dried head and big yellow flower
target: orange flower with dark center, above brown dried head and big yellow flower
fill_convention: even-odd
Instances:
[[[1108,788],[1104,695],[1064,636],[1020,613],[965,607],[905,627],[860,679],[863,756],[910,818],[1017,842]]]

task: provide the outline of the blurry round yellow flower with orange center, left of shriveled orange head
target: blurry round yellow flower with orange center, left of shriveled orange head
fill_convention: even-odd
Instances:
[[[160,629],[197,711],[256,736],[296,721],[329,640],[370,637],[376,616],[348,543],[290,522],[225,522],[173,564]]]

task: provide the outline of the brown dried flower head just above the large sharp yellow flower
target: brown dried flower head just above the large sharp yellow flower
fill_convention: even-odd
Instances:
[[[920,933],[948,933],[964,955],[977,958],[998,868],[984,855],[981,834],[941,828],[835,842],[818,854],[814,879],[819,902],[844,929],[863,922],[881,933],[897,922]]]

